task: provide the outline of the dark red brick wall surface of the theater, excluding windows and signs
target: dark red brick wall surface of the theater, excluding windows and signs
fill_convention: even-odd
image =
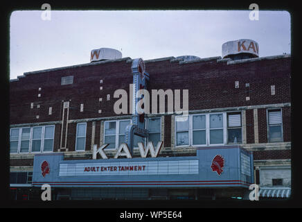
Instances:
[[[219,58],[204,59],[195,62],[181,62],[174,58],[147,60],[145,67],[150,74],[148,91],[151,89],[188,89],[189,110],[215,108],[240,108],[255,105],[290,103],[290,57],[279,56],[270,59],[258,59],[249,62],[233,62]],[[75,120],[100,117],[116,117],[114,98],[116,89],[125,89],[129,94],[132,84],[132,60],[123,58],[109,62],[96,62],[62,69],[50,69],[31,72],[25,78],[10,82],[10,124],[43,123],[56,121],[53,151],[64,144],[66,135],[67,109],[64,101],[69,101],[66,148],[75,151]],[[61,85],[62,76],[74,76],[72,85]],[[100,83],[103,80],[103,83]],[[235,82],[239,81],[239,87]],[[247,87],[246,83],[249,83]],[[271,94],[271,85],[275,85],[276,94]],[[100,87],[103,87],[100,89]],[[41,90],[39,90],[41,88]],[[40,94],[40,96],[38,96]],[[107,94],[110,99],[107,101]],[[249,96],[249,100],[247,100]],[[102,98],[102,101],[99,99]],[[150,101],[152,96],[150,94]],[[182,94],[181,94],[182,101]],[[30,108],[33,103],[33,108]],[[84,104],[80,112],[80,104]],[[39,105],[39,108],[37,108]],[[49,107],[52,114],[48,114]],[[182,107],[182,104],[181,104]],[[152,105],[150,104],[150,110]],[[129,104],[128,104],[129,109]],[[290,107],[283,107],[283,142],[291,140]],[[98,112],[101,110],[101,113]],[[167,103],[166,103],[167,111]],[[258,139],[260,144],[267,143],[267,109],[258,108]],[[37,119],[37,115],[39,119]],[[171,115],[164,118],[164,146],[171,146]],[[100,146],[101,121],[96,120],[94,144]],[[255,143],[254,110],[246,110],[247,144]],[[91,151],[93,121],[87,121],[85,151]],[[188,153],[192,155],[192,153]],[[257,151],[255,160],[290,159],[290,151]],[[33,160],[31,160],[33,161]],[[11,160],[11,164],[29,165],[30,160]]]

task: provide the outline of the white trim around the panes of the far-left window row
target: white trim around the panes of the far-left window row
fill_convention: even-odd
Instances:
[[[55,143],[55,125],[44,125],[44,126],[25,126],[25,127],[15,127],[15,128],[10,128],[10,134],[13,129],[19,129],[19,138],[18,138],[18,147],[17,147],[17,153],[52,153],[53,152],[53,147],[51,151],[44,151],[44,133],[45,133],[45,128],[48,126],[53,126],[53,137],[52,138],[46,138],[46,139],[53,139],[53,145]],[[42,137],[41,137],[41,146],[40,146],[40,151],[32,151],[32,144],[33,144],[33,128],[39,128],[42,127]],[[22,130],[24,128],[30,128],[30,135],[29,135],[29,147],[28,147],[28,152],[21,152],[21,136],[22,136]],[[15,140],[17,141],[17,140]]]

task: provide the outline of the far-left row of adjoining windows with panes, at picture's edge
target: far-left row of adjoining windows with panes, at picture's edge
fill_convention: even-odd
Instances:
[[[53,151],[55,126],[10,129],[10,153],[42,153]]]

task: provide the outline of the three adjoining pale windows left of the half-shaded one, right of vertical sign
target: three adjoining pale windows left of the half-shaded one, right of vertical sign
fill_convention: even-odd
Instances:
[[[225,144],[225,113],[191,114],[175,117],[177,146]]]

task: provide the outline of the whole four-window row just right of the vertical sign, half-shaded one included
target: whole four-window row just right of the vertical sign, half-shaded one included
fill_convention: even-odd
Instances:
[[[176,146],[209,146],[242,142],[241,113],[176,116]]]

